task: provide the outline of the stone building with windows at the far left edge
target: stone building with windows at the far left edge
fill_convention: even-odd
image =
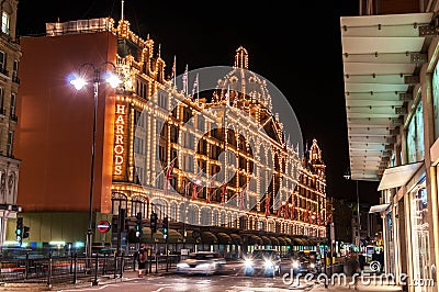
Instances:
[[[14,157],[13,148],[21,58],[21,47],[15,35],[18,2],[7,0],[0,5],[0,246],[5,239],[8,218],[15,218],[21,211],[16,204],[21,161]]]

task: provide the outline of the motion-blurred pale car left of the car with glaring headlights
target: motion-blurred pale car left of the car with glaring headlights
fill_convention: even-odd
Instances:
[[[213,274],[223,270],[226,260],[215,251],[196,251],[177,263],[177,273]]]

